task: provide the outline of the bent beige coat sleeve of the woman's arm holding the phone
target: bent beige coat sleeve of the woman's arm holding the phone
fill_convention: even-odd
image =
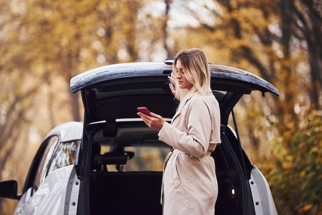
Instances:
[[[181,131],[165,122],[159,131],[159,140],[164,141],[175,149],[202,158],[209,147],[211,134],[210,112],[203,99],[194,99],[187,105],[182,117],[185,117],[188,132]]]

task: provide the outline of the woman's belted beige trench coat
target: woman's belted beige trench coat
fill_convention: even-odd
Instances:
[[[174,149],[164,164],[163,214],[214,214],[218,183],[210,153],[220,144],[220,110],[212,93],[186,98],[159,140]]]

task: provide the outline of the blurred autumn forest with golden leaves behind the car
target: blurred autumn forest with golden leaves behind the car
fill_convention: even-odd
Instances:
[[[198,47],[279,89],[236,106],[241,142],[279,214],[322,214],[321,1],[0,0],[0,43],[0,180],[19,191],[47,132],[82,120],[70,78]]]

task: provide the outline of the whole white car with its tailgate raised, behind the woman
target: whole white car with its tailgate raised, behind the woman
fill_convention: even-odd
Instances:
[[[0,182],[0,197],[19,200],[15,214],[162,214],[162,169],[171,148],[136,113],[146,106],[171,121],[177,106],[167,84],[172,62],[108,65],[71,79],[71,91],[82,94],[84,121],[50,131],[22,194],[11,180]],[[222,144],[211,154],[216,214],[277,214],[269,184],[242,148],[232,110],[244,94],[279,91],[247,71],[209,66],[221,109]]]

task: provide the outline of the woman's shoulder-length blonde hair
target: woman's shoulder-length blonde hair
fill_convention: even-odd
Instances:
[[[177,53],[172,65],[172,74],[176,76],[176,63],[180,60],[185,71],[187,80],[193,85],[190,91],[188,89],[176,89],[176,99],[182,101],[185,96],[193,93],[206,95],[211,92],[210,88],[210,70],[205,53],[199,48],[184,49]]]

